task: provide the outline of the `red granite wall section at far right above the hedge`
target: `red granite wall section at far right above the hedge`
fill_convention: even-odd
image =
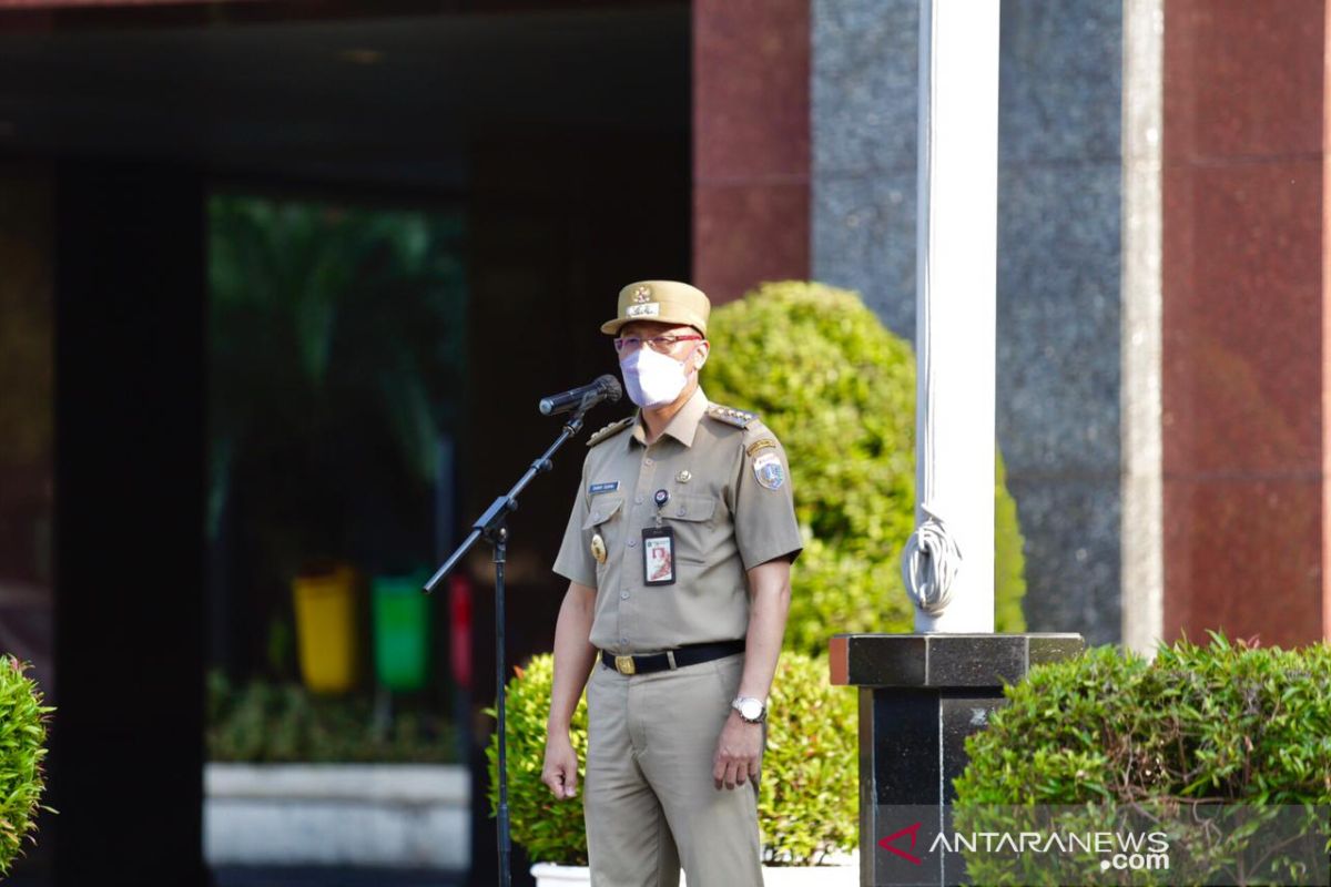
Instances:
[[[1165,15],[1165,637],[1324,625],[1322,0]]]

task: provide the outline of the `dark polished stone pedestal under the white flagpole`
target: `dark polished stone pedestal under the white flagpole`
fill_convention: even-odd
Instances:
[[[966,766],[965,739],[1030,666],[1077,656],[1079,634],[837,634],[832,684],[860,688],[861,887],[956,884],[929,852]]]

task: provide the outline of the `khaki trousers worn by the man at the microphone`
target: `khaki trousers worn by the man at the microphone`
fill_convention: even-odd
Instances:
[[[592,887],[761,887],[757,786],[717,789],[744,654],[587,684],[583,811]],[[765,738],[764,726],[764,738]]]

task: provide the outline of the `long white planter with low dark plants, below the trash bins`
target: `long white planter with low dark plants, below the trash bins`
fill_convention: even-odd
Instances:
[[[453,723],[423,697],[382,719],[375,702],[210,672],[209,863],[466,867],[470,779]]]

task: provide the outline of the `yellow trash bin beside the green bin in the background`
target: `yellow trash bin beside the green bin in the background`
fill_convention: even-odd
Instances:
[[[355,570],[291,580],[301,676],[314,693],[346,693],[355,682]]]

